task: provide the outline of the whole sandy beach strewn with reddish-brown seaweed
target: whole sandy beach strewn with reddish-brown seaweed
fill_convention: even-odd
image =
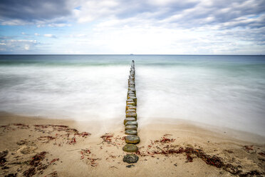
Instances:
[[[0,176],[265,176],[264,137],[185,121],[139,121],[139,161],[130,165],[123,162],[122,119],[102,124],[1,112]]]

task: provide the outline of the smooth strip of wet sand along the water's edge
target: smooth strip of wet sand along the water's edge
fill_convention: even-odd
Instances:
[[[4,118],[6,117],[6,118]],[[113,118],[109,120],[99,120],[95,121],[78,121],[73,118],[48,118],[43,116],[20,116],[14,113],[8,113],[5,111],[0,111],[0,118],[2,123],[17,123],[19,122],[17,118],[22,118],[22,122],[32,121],[31,123],[46,123],[47,121],[51,123],[63,123],[74,128],[78,128],[80,131],[86,131],[90,129],[93,135],[98,136],[104,132],[108,131],[123,131],[123,123],[120,123],[120,120],[123,121],[123,118]],[[4,119],[3,119],[4,118]],[[232,128],[226,128],[221,126],[213,126],[205,123],[200,123],[197,121],[187,121],[180,118],[152,118],[152,121],[145,120],[145,118],[139,118],[139,131],[149,130],[151,127],[159,129],[162,131],[166,128],[170,130],[177,128],[180,131],[191,131],[192,129],[198,130],[199,132],[214,133],[214,136],[218,138],[227,138],[234,139],[237,141],[243,141],[246,143],[256,143],[260,145],[265,145],[265,136],[261,136],[256,133],[251,133],[248,131],[239,131]],[[91,126],[93,125],[93,126]]]

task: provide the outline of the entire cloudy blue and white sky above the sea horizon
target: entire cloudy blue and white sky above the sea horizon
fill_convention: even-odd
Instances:
[[[265,0],[1,0],[0,54],[265,54]]]

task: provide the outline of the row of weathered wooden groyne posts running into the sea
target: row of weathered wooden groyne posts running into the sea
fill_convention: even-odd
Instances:
[[[135,152],[138,151],[137,143],[140,143],[140,138],[137,136],[137,97],[135,90],[135,61],[132,61],[130,66],[130,75],[128,79],[128,93],[126,100],[126,108],[125,108],[125,119],[123,121],[125,125],[125,142],[127,143],[123,146],[123,151],[128,152],[126,156],[124,156],[123,161],[127,163],[135,163],[138,161],[138,156],[136,156]]]

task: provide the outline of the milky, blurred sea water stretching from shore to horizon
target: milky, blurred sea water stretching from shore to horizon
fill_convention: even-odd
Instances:
[[[143,121],[180,118],[265,136],[265,56],[0,56],[0,111],[124,118],[132,59]]]

